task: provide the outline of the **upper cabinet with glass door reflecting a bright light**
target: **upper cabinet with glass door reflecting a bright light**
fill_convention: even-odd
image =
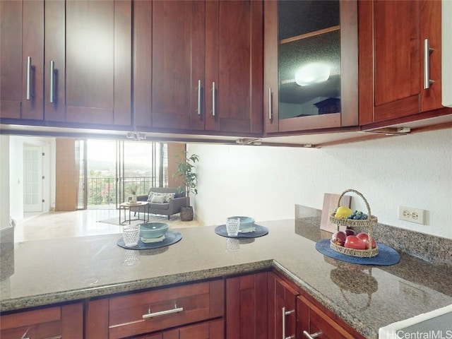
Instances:
[[[357,1],[264,1],[266,133],[358,125]]]

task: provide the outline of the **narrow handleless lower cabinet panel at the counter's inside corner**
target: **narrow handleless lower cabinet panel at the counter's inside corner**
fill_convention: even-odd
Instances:
[[[267,273],[226,279],[226,338],[267,338]]]

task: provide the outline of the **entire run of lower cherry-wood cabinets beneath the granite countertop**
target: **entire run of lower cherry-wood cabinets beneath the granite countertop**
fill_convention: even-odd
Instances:
[[[2,314],[0,338],[364,339],[276,271]]]

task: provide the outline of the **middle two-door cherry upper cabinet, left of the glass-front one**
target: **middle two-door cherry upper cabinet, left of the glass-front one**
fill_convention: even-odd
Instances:
[[[134,2],[136,129],[261,133],[262,6]]]

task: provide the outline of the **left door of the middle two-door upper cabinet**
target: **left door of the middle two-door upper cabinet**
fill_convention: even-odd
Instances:
[[[136,1],[135,126],[204,129],[204,1]]]

